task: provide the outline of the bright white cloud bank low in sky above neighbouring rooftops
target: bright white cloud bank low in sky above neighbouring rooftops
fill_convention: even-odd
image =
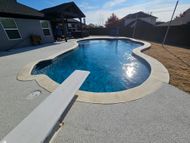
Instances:
[[[154,16],[158,17],[158,21],[169,21],[174,6],[175,1],[173,0],[154,0],[114,10],[111,10],[110,8],[100,8],[97,10],[86,11],[85,14],[87,23],[94,23],[98,25],[103,25],[112,13],[115,13],[119,18],[122,18],[128,14],[135,13],[138,11],[152,13]],[[190,8],[190,3],[179,3],[175,16],[179,15],[188,8]]]

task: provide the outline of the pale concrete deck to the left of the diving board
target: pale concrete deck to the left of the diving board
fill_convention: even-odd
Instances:
[[[71,44],[42,45],[0,53],[0,140],[50,94],[35,81],[18,81],[19,70],[31,61],[49,57]],[[28,96],[35,90],[40,90],[41,95],[29,100]]]

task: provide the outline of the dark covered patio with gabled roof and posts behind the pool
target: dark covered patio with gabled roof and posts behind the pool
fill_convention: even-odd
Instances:
[[[67,37],[71,30],[74,37],[83,37],[85,15],[74,2],[63,3],[44,9],[41,12],[50,20],[53,34],[56,39]],[[71,19],[78,19],[79,22],[74,22],[74,20],[71,21]],[[76,28],[73,28],[71,24],[73,22]]]

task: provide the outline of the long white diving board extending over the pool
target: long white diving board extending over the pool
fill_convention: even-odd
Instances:
[[[88,71],[74,71],[53,93],[36,107],[1,143],[43,143],[52,133]]]

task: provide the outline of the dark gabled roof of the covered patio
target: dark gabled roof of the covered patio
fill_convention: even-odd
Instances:
[[[63,3],[54,7],[42,10],[45,15],[56,13],[61,16],[64,15],[68,18],[85,17],[84,13],[78,8],[74,2]]]

